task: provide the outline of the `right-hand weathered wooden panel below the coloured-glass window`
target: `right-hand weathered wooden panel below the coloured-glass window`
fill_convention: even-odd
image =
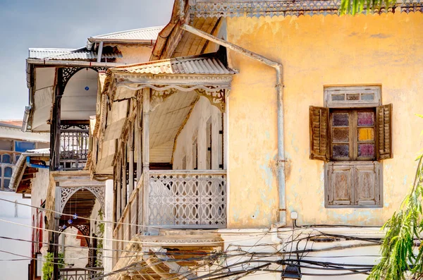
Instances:
[[[355,205],[379,205],[379,162],[354,166]]]

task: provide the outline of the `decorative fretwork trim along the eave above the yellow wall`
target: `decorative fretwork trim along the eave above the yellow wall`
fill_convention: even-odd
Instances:
[[[399,2],[399,1],[398,1]],[[226,3],[197,3],[190,6],[190,13],[197,18],[247,16],[314,16],[338,15],[341,1],[226,1]],[[375,9],[373,13],[412,13],[423,10],[421,0],[403,0],[393,8]],[[363,11],[366,13],[366,11]]]

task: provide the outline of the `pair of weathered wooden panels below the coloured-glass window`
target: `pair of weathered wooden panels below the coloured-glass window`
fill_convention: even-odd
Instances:
[[[326,172],[326,206],[381,206],[379,162],[331,162],[327,164]]]

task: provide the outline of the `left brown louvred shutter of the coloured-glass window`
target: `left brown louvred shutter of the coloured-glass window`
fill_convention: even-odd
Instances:
[[[309,107],[310,159],[329,161],[329,108]]]

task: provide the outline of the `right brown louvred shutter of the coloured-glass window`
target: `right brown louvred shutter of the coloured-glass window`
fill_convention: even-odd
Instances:
[[[376,129],[377,159],[392,159],[392,104],[377,107]]]

